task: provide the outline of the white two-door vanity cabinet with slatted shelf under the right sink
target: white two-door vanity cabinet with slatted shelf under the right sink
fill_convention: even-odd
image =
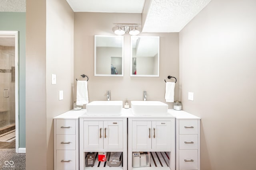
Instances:
[[[148,152],[150,167],[133,167],[133,152]],[[174,170],[175,118],[128,118],[128,170]]]

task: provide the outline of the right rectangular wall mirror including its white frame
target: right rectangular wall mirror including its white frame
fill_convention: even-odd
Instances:
[[[131,36],[131,76],[159,76],[159,36]]]

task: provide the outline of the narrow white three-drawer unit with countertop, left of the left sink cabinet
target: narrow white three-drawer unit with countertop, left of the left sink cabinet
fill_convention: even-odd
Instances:
[[[79,170],[78,117],[83,110],[54,117],[54,170]]]

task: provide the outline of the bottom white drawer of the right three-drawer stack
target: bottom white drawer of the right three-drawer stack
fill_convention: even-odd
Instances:
[[[179,150],[179,170],[198,169],[198,150]]]

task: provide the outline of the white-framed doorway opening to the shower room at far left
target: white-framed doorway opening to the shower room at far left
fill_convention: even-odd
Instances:
[[[18,31],[0,31],[0,149],[18,153]]]

